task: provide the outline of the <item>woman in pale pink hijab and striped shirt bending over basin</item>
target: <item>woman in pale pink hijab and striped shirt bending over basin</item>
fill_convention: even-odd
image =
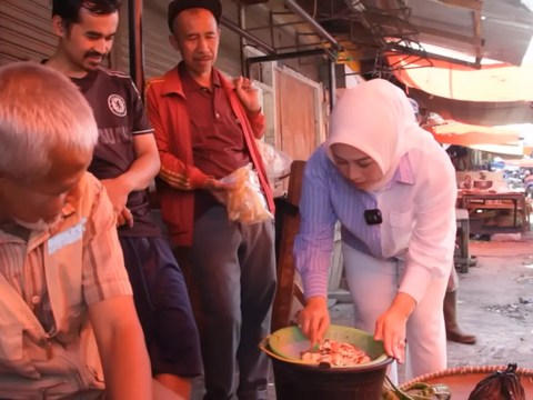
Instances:
[[[400,362],[406,356],[408,379],[445,369],[456,194],[450,158],[419,127],[402,90],[379,79],[348,90],[329,140],[305,167],[294,243],[303,332],[315,342],[330,323],[328,270],[340,222],[355,328]],[[390,376],[398,380],[395,368]]]

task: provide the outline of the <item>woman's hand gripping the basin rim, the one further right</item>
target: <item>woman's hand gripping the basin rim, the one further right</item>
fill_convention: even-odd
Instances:
[[[385,352],[399,362],[405,359],[405,326],[416,306],[406,293],[398,293],[392,306],[375,322],[374,340],[382,340]]]

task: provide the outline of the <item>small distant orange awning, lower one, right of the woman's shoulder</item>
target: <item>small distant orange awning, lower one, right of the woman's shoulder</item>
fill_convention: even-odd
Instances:
[[[449,123],[426,129],[439,143],[455,146],[506,144],[519,141],[519,132],[465,123]]]

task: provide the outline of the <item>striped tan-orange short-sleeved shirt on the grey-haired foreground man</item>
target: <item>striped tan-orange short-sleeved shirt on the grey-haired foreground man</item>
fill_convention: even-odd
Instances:
[[[52,230],[0,226],[0,399],[103,388],[87,309],[132,290],[111,202],[92,174]]]

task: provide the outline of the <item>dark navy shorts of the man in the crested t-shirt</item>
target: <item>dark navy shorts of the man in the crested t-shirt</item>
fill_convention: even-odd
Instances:
[[[198,328],[183,274],[161,238],[120,238],[152,373],[203,372]]]

